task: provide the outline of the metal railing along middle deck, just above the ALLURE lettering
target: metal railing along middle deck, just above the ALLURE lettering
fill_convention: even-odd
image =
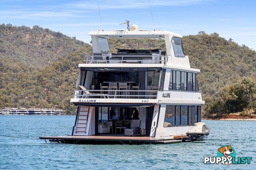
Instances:
[[[158,90],[75,90],[73,98],[156,99]]]

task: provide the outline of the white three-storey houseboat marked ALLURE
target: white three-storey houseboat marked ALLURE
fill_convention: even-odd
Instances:
[[[93,55],[78,64],[80,73],[70,100],[77,106],[72,135],[40,139],[106,144],[190,139],[186,133],[201,121],[204,101],[197,80],[200,70],[190,67],[182,36],[136,29],[91,31],[89,35]],[[163,39],[166,51],[120,47],[110,53],[109,39]],[[208,134],[198,131],[194,139]]]

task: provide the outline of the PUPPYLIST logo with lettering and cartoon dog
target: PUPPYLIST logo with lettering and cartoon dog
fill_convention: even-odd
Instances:
[[[236,157],[236,150],[231,145],[224,145],[218,149],[216,157],[204,157],[204,164],[250,164],[252,157]]]

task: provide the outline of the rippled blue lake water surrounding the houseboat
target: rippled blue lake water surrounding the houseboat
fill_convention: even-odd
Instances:
[[[205,141],[167,145],[72,145],[45,143],[46,135],[70,135],[75,116],[0,116],[0,169],[255,169],[256,121],[204,121]],[[6,137],[11,136],[11,137]],[[204,164],[222,145],[248,164]]]

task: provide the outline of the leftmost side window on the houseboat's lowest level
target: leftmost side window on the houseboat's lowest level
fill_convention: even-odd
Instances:
[[[175,126],[175,105],[166,105],[164,127]]]

